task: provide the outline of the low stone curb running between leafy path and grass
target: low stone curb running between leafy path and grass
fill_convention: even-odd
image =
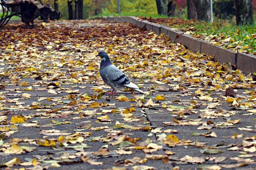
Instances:
[[[155,31],[157,35],[165,34],[172,41],[184,45],[187,49],[194,53],[207,54],[214,57],[214,61],[221,63],[230,62],[236,65],[236,68],[244,71],[245,74],[256,73],[256,56],[252,54],[245,54],[235,52],[232,50],[221,48],[204,40],[198,40],[191,35],[184,34],[182,31],[176,31],[170,27],[166,27],[157,23],[148,22],[147,20],[140,20],[137,17],[96,17],[93,19],[109,20],[116,22],[129,22],[138,27],[144,27],[148,31]]]

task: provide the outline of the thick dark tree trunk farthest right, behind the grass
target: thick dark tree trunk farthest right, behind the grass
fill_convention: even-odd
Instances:
[[[236,25],[253,23],[252,0],[235,0]]]

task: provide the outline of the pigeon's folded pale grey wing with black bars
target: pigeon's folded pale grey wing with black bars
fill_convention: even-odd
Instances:
[[[108,79],[111,81],[113,84],[116,85],[128,85],[130,84],[130,80],[125,76],[125,74],[122,73],[121,70],[116,68],[115,65],[109,65],[108,66]]]

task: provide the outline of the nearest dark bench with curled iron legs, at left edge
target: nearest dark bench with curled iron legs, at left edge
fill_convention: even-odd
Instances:
[[[33,28],[35,18],[39,17],[40,9],[44,8],[35,0],[0,0],[0,5],[3,9],[0,28],[6,25],[12,16],[20,17],[27,28]]]

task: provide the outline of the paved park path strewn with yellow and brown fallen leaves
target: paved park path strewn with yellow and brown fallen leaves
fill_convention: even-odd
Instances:
[[[129,23],[6,26],[0,43],[3,169],[256,168],[254,77]],[[145,95],[102,93],[102,49]]]

